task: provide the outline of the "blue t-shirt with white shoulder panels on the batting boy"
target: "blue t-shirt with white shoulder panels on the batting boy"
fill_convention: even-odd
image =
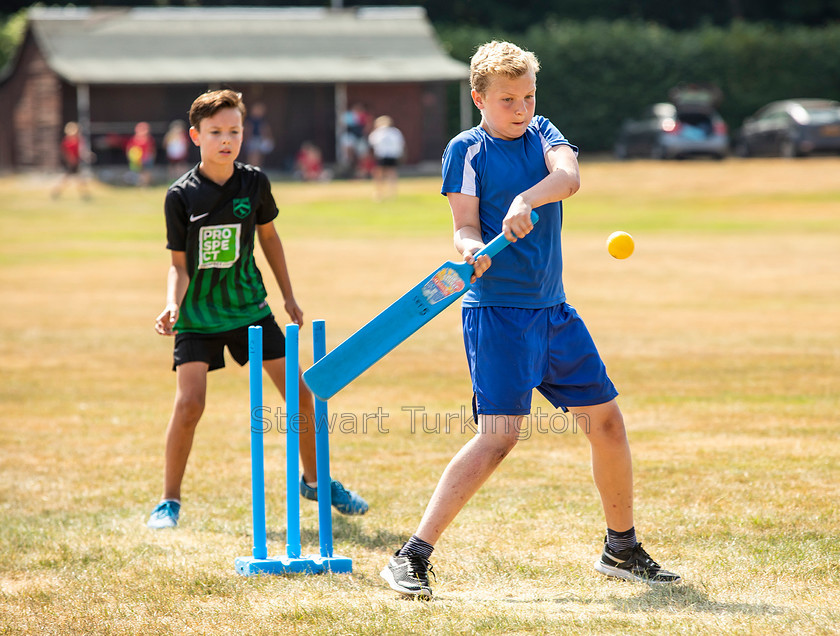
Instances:
[[[577,153],[577,147],[541,115],[512,140],[491,137],[480,126],[465,130],[443,153],[441,193],[478,197],[481,236],[487,243],[502,231],[513,199],[548,176],[545,153],[560,145]],[[531,233],[493,257],[490,269],[464,295],[464,306],[539,309],[565,302],[563,205],[548,203],[536,212],[540,220]]]

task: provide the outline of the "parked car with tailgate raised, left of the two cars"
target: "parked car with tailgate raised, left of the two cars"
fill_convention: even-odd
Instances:
[[[677,159],[708,155],[723,159],[729,152],[726,123],[713,108],[662,102],[621,126],[615,144],[619,159]]]

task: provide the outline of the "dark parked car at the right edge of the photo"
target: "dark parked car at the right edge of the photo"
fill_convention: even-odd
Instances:
[[[840,152],[840,102],[829,99],[785,99],[771,102],[744,120],[735,136],[742,157],[799,157]]]

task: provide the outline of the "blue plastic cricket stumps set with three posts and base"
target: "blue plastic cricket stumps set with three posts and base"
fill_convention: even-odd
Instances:
[[[326,354],[326,330],[323,320],[312,325],[315,361]],[[237,557],[236,571],[244,576],[254,574],[287,574],[298,572],[348,573],[353,561],[333,555],[332,492],[329,451],[329,413],[327,403],[315,401],[315,454],[318,469],[318,538],[320,554],[301,556],[299,452],[300,412],[298,356],[299,329],[286,325],[286,555],[269,557],[266,545],[265,473],[263,434],[265,418],[262,394],[262,327],[248,329],[249,380],[251,385],[251,498],[254,521],[252,557]],[[307,423],[311,425],[312,423]]]

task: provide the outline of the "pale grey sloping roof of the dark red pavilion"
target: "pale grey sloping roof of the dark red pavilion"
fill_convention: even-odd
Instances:
[[[71,83],[461,80],[422,7],[33,8],[50,67]]]

